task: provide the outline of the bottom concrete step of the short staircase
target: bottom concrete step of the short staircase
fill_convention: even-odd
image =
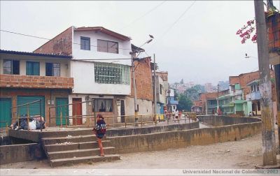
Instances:
[[[114,161],[120,160],[120,155],[118,154],[105,154],[105,156],[84,156],[76,158],[66,158],[66,159],[52,159],[50,160],[51,167],[57,166],[71,166],[75,163],[88,163],[88,162],[100,162],[100,161]]]

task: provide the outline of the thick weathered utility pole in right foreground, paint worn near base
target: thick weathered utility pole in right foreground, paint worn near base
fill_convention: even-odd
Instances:
[[[254,1],[255,24],[258,36],[258,66],[260,71],[260,105],[262,111],[262,161],[263,166],[276,165],[272,88],[270,82],[267,27],[263,1]]]

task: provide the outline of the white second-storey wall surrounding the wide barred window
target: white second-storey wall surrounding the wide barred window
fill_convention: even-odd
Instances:
[[[94,82],[94,62],[71,61],[71,77],[74,78],[73,94],[129,95],[130,85],[99,84]]]

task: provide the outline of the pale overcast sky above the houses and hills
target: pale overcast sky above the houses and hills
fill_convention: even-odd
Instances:
[[[66,28],[102,26],[142,45],[169,82],[228,80],[258,70],[257,45],[236,31],[255,16],[253,1],[1,1],[1,30],[53,38]],[[279,9],[279,1],[274,1]],[[181,18],[180,18],[181,17]],[[180,20],[179,20],[180,19]],[[46,41],[1,31],[1,49],[33,52]],[[245,59],[245,53],[252,56]]]

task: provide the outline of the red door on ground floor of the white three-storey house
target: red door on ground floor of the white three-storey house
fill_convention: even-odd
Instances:
[[[72,99],[72,115],[73,115],[73,125],[83,124],[82,120],[82,98]],[[75,104],[76,103],[76,104]]]

